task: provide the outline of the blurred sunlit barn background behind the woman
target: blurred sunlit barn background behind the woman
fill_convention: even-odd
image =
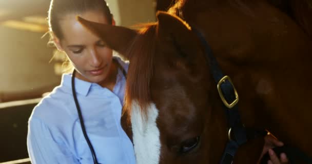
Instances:
[[[88,1],[88,0],[86,0]],[[117,25],[154,22],[172,0],[106,0]],[[64,57],[47,46],[49,0],[0,0],[0,164],[29,163],[27,121],[42,95],[60,84]],[[49,62],[50,61],[50,62]],[[11,161],[11,162],[8,162]]]

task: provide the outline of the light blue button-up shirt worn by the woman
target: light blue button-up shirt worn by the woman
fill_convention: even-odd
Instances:
[[[117,58],[127,71],[128,63]],[[75,78],[87,134],[102,164],[135,163],[133,145],[120,123],[125,77],[119,69],[113,92]],[[33,164],[93,163],[71,91],[71,74],[42,99],[29,118],[28,153]]]

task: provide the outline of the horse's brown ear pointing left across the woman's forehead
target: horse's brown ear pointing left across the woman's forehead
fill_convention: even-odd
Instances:
[[[109,48],[127,58],[129,57],[127,50],[131,46],[134,37],[138,34],[135,30],[91,22],[80,16],[77,16],[77,20],[94,35],[99,36]]]

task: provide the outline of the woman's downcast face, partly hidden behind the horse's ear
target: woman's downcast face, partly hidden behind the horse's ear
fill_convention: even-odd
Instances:
[[[101,12],[87,11],[82,14],[67,14],[60,21],[63,33],[61,40],[54,39],[56,46],[65,51],[78,72],[76,77],[92,83],[101,83],[109,74],[112,65],[112,50],[101,38],[90,33],[76,20],[79,15],[93,22],[108,24]]]

